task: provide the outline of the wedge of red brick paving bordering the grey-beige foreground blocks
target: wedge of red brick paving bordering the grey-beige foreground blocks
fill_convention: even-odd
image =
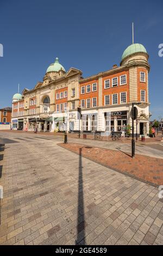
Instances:
[[[111,149],[88,147],[83,144],[59,143],[59,146],[80,154],[92,161],[98,162],[118,172],[128,174],[134,178],[153,185],[163,185],[163,160],[155,157],[135,155]]]

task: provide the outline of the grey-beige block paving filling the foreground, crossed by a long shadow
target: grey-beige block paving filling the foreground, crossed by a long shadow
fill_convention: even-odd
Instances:
[[[158,188],[25,136],[1,147],[1,245],[163,243]]]

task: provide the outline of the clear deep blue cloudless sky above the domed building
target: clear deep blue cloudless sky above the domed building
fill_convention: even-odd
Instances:
[[[59,57],[90,76],[120,65],[125,48],[135,42],[149,53],[149,99],[152,119],[163,118],[162,0],[0,0],[0,108],[12,95],[33,88]]]

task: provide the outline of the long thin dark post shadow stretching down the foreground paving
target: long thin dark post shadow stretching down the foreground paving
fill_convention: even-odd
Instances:
[[[78,176],[78,223],[76,245],[82,241],[85,243],[85,219],[84,219],[84,195],[83,195],[83,170],[82,170],[82,148],[79,149],[79,176]]]

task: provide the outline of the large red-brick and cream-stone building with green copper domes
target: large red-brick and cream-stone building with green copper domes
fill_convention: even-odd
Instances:
[[[12,101],[13,129],[38,131],[101,131],[104,135],[131,126],[131,106],[138,110],[135,131],[149,133],[148,53],[141,44],[123,52],[120,66],[83,78],[82,71],[67,72],[58,58],[49,65],[43,82],[25,88]],[[82,121],[77,107],[82,108]]]

